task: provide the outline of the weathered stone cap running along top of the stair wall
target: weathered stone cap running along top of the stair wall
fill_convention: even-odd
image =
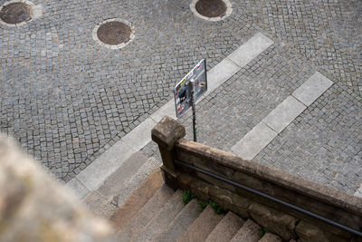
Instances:
[[[243,160],[233,154],[223,150],[210,148],[203,144],[195,143],[189,140],[179,140],[177,148],[186,149],[197,156],[213,160],[230,169],[238,170],[256,178],[270,181],[286,189],[293,189],[301,194],[319,201],[328,203],[338,208],[344,208],[358,216],[362,216],[362,198],[358,198],[347,192],[330,188],[311,180],[301,179],[281,169],[272,169],[251,160]]]

